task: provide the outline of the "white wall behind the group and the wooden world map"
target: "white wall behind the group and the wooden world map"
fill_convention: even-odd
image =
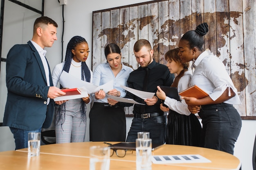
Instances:
[[[67,5],[64,7],[64,56],[68,41],[75,35],[84,37],[88,41],[89,48],[92,49],[92,11],[147,1],[148,0],[67,0]],[[59,5],[58,0],[45,0],[45,16],[52,18],[58,23],[58,41],[55,41],[52,48],[46,49],[46,57],[49,61],[50,68],[53,69],[56,64],[61,62],[62,6]],[[27,37],[27,40],[30,39],[31,37]],[[91,68],[91,57],[89,57],[86,62],[89,68]],[[89,141],[89,116],[87,116],[87,118],[88,128],[86,131],[86,140]],[[132,118],[126,119],[127,132],[130,129],[131,120]],[[5,132],[2,133],[1,129],[5,129]],[[14,149],[13,138],[8,128],[0,127],[0,133],[0,151]],[[256,120],[243,120],[242,130],[235,144],[234,152],[234,155],[242,162],[243,170],[252,170],[252,150],[255,134]],[[9,146],[2,146],[2,140],[10,141]]]

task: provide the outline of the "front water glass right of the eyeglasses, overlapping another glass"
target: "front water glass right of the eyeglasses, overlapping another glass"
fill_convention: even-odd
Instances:
[[[136,139],[136,169],[151,170],[151,139]]]

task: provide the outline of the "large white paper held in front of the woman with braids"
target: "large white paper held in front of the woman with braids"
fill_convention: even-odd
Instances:
[[[83,81],[79,78],[76,78],[65,71],[61,73],[59,82],[65,88],[83,88],[89,94],[98,92],[100,89],[103,89],[105,93],[108,93],[108,91],[112,90],[114,87],[113,80],[109,81],[104,85],[97,86],[92,83]]]

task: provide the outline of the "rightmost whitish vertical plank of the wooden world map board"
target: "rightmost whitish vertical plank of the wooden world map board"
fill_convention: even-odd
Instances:
[[[256,116],[256,0],[243,0],[247,116]]]

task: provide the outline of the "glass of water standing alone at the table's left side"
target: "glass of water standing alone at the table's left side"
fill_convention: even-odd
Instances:
[[[40,154],[40,132],[29,132],[28,134],[28,156],[34,157]]]

